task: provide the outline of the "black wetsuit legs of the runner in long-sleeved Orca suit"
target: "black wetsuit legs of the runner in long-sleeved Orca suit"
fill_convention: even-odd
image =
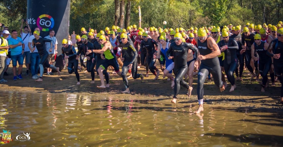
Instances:
[[[185,73],[188,71],[188,66],[186,65],[185,67],[181,67],[180,69],[174,69],[175,70],[175,80],[174,80],[174,97],[177,98],[177,95],[180,91],[180,84],[185,87],[186,89],[189,89],[188,83],[186,83],[183,79],[183,76]]]

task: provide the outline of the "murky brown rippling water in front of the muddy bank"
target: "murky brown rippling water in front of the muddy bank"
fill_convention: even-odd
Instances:
[[[196,105],[168,98],[111,96],[2,92],[0,126],[13,139],[30,132],[32,142],[11,146],[283,144],[282,113],[213,107],[196,115]]]

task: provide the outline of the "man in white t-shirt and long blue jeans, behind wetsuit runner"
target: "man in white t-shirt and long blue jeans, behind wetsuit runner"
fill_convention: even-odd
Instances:
[[[40,29],[35,28],[35,31],[40,32]],[[33,50],[33,47],[31,47],[31,44],[32,44],[34,38],[35,38],[34,35],[31,35],[29,37],[28,46],[29,46],[30,54],[31,54],[31,76],[32,76],[33,79],[38,79],[39,76],[37,75],[37,72],[38,72],[38,69],[39,69],[40,56],[39,56],[39,53],[37,51],[36,46],[34,46],[34,48],[35,48],[34,50]]]

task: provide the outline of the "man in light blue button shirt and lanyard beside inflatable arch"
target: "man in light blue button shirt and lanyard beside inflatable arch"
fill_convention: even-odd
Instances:
[[[57,54],[57,44],[58,44],[58,42],[57,42],[57,39],[54,35],[55,35],[55,31],[50,30],[49,35],[44,37],[44,38],[52,40],[52,43],[53,43],[53,46],[50,46],[50,42],[45,43],[46,50],[49,53],[49,57],[48,57],[47,61],[49,62],[50,65],[53,65],[53,63],[55,62],[55,54]],[[47,68],[47,75],[54,75],[52,73],[52,69]]]

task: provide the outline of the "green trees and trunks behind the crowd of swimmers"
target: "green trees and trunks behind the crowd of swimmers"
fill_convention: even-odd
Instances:
[[[273,24],[283,20],[282,0],[70,0],[70,33],[81,27],[104,30],[112,25],[126,28],[138,25],[138,6],[143,27],[190,28]],[[0,2],[0,22],[12,29],[20,28],[27,16],[27,0]]]

